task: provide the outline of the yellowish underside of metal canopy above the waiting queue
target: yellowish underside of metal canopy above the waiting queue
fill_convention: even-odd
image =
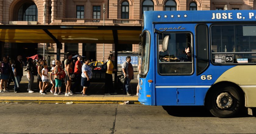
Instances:
[[[0,25],[0,41],[11,43],[139,44],[140,33],[141,26]]]

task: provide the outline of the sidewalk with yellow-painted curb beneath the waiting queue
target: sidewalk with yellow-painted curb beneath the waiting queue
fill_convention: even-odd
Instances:
[[[37,86],[37,76],[35,76],[34,83],[32,87]],[[65,84],[65,83],[64,83]],[[82,87],[80,87],[80,91],[77,91],[77,94],[73,94],[71,96],[65,96],[65,94],[61,95],[53,95],[53,93],[49,92],[52,87],[52,84],[49,86],[49,90],[46,95],[39,93],[39,90],[34,90],[35,93],[28,93],[27,91],[28,80],[24,73],[20,83],[21,93],[14,93],[14,83],[8,87],[10,92],[0,93],[0,103],[94,103],[94,104],[119,104],[124,101],[129,101],[130,104],[140,104],[138,101],[138,97],[136,96],[136,88],[137,88],[137,79],[131,81],[132,86],[132,96],[126,95],[125,90],[116,90],[116,95],[104,95],[104,86],[105,83],[91,83],[90,87],[87,89],[87,93],[89,96],[83,96],[80,91]],[[33,89],[33,88],[32,88]],[[66,88],[62,86],[62,92],[65,93]],[[124,93],[125,92],[125,93]]]

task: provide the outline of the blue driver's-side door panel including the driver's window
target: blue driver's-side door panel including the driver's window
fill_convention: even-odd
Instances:
[[[155,24],[155,105],[194,105],[196,24]]]

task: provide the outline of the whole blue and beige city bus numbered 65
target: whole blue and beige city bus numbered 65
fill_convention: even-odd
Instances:
[[[145,11],[138,101],[206,106],[219,118],[256,107],[256,10]]]

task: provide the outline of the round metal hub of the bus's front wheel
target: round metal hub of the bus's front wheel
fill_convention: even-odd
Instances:
[[[220,109],[225,110],[232,106],[233,99],[229,93],[225,92],[225,93],[219,94],[219,96],[217,97],[216,103]]]

